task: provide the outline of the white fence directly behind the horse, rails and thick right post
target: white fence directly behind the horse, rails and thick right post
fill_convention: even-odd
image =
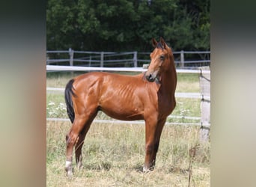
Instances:
[[[146,69],[142,67],[120,68],[120,67],[73,67],[73,66],[53,66],[46,65],[47,71],[127,71],[127,72],[144,72]],[[201,117],[187,117],[187,116],[173,116],[169,115],[168,118],[181,118],[190,120],[200,120],[198,123],[169,123],[167,125],[195,125],[201,126],[201,141],[206,141],[209,137],[210,130],[210,70],[209,67],[201,67],[199,70],[177,70],[177,73],[200,73],[200,87],[201,93],[175,93],[176,97],[201,99]],[[204,80],[204,81],[202,81]],[[64,92],[64,88],[46,88],[47,92]],[[66,121],[64,118],[47,118],[47,120],[61,120]],[[119,120],[94,120],[95,123],[143,123],[142,121],[119,121]]]

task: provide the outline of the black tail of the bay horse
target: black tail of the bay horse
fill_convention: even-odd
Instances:
[[[74,122],[75,119],[75,112],[73,108],[73,101],[72,96],[76,96],[76,94],[73,92],[73,82],[74,79],[71,79],[70,82],[67,83],[65,88],[65,102],[67,105],[67,115],[70,117],[71,122]]]

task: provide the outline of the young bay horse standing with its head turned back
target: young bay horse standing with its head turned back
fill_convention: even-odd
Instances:
[[[75,146],[76,165],[82,166],[82,145],[98,111],[118,120],[145,121],[143,171],[152,171],[166,117],[174,110],[177,74],[171,48],[160,38],[152,39],[153,52],[147,72],[136,76],[116,73],[85,73],[71,79],[65,88],[67,114],[73,125],[66,135],[65,170],[72,175]]]

